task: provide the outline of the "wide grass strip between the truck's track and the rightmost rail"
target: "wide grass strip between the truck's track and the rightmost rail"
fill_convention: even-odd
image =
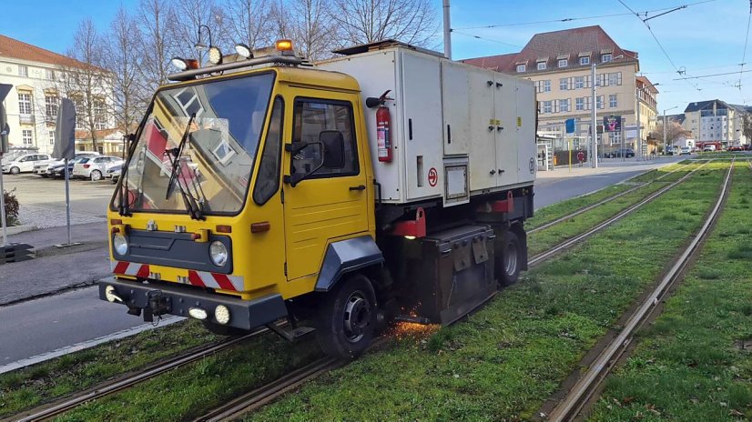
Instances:
[[[701,225],[723,165],[422,341],[401,341],[246,420],[528,420]]]

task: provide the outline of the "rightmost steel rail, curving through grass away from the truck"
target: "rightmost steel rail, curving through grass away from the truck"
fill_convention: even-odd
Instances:
[[[642,305],[636,309],[635,313],[629,317],[624,329],[615,337],[611,343],[595,358],[593,364],[590,365],[588,371],[581,377],[577,383],[572,387],[569,394],[564,397],[551,414],[548,420],[551,421],[564,421],[571,420],[577,415],[587,401],[592,397],[596,387],[600,385],[605,379],[611,369],[614,367],[618,357],[621,357],[627,346],[631,343],[631,338],[635,333],[636,328],[640,327],[645,321],[646,316],[655,309],[661,299],[666,296],[670,288],[676,284],[681,278],[686,266],[688,266],[692,257],[698,252],[697,246],[710,234],[710,227],[716,222],[716,218],[720,211],[723,202],[726,200],[729,180],[734,169],[734,159],[731,160],[731,166],[728,167],[727,175],[724,180],[721,193],[718,196],[716,205],[711,210],[710,214],[706,217],[705,224],[694,236],[692,242],[686,247],[684,252],[676,260],[674,266],[666,273],[658,286],[655,287],[653,293],[647,296]]]

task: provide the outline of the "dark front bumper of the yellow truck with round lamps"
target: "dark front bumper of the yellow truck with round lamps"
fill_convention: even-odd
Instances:
[[[188,316],[188,309],[199,307],[207,312],[207,320],[218,324],[214,316],[218,305],[227,306],[230,317],[227,327],[252,330],[288,316],[287,306],[280,295],[269,295],[255,300],[208,293],[188,286],[150,285],[136,281],[107,277],[99,280],[99,298],[107,300],[105,289],[115,287],[115,294],[130,309],[151,310],[154,315]],[[158,297],[158,301],[155,300]],[[156,303],[158,302],[158,303]],[[118,303],[117,301],[115,303]]]

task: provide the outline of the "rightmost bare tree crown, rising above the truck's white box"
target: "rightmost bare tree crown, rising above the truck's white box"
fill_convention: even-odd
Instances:
[[[392,38],[426,46],[438,29],[430,0],[334,0],[330,11],[343,44]]]

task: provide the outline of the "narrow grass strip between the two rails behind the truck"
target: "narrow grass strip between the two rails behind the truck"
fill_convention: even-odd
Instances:
[[[655,191],[666,187],[667,183],[675,182],[681,177],[686,176],[691,170],[694,170],[701,165],[702,164],[685,166],[685,168],[677,170],[676,172],[664,177],[660,182],[641,186],[634,192],[630,192],[625,196],[615,198],[613,201],[597,206],[579,216],[574,216],[560,224],[531,234],[528,236],[528,251],[530,256],[540,254],[551,247],[564,242],[564,240],[568,238],[584,233],[593,226],[603,223],[608,218],[615,216],[629,206],[633,206],[645,199],[646,196],[650,196],[650,194],[655,193]]]

